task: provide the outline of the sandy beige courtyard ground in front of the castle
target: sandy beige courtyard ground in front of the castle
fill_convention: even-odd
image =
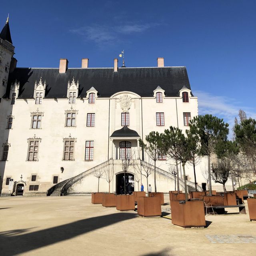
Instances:
[[[207,216],[205,229],[167,218],[141,218],[90,203],[90,196],[0,198],[0,255],[255,255],[256,222],[246,215]],[[165,202],[169,202],[165,195]]]

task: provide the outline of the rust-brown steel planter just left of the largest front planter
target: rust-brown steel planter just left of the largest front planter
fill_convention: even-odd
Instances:
[[[137,209],[140,216],[161,216],[161,198],[159,196],[138,197]]]

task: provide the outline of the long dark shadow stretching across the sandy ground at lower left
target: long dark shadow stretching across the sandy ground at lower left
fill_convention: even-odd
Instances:
[[[26,232],[26,229],[0,232],[0,254],[4,256],[21,254],[43,246],[61,242],[99,228],[110,226],[117,222],[129,220],[136,216],[137,214],[131,213],[115,213],[78,220],[69,224],[47,228],[28,234],[21,234]],[[20,235],[14,236],[13,234]]]

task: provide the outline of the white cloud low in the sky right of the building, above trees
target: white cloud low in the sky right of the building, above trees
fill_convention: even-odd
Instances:
[[[199,114],[212,114],[218,116],[218,118],[223,118],[229,124],[230,135],[232,135],[231,130],[234,125],[234,118],[238,116],[239,109],[244,110],[248,118],[256,118],[254,108],[246,107],[234,98],[216,96],[202,91],[193,91],[193,94],[198,97]]]

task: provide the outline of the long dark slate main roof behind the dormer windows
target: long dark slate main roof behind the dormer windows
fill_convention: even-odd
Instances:
[[[153,68],[69,68],[59,74],[58,68],[15,68],[9,75],[8,87],[15,80],[20,82],[19,97],[33,98],[35,81],[46,80],[45,98],[66,98],[68,80],[79,80],[78,96],[85,97],[92,86],[98,91],[98,97],[110,97],[116,92],[131,91],[147,97],[160,86],[166,96],[178,96],[179,90],[186,86],[190,89],[186,67]],[[7,90],[6,95],[9,95]],[[191,89],[190,89],[191,90]]]

